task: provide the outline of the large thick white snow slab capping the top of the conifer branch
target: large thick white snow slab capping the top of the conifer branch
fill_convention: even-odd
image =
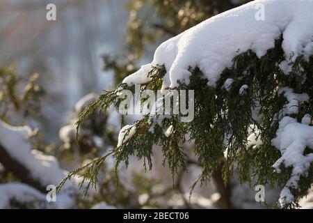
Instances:
[[[264,9],[264,10],[263,10]],[[152,63],[141,67],[123,82],[143,84],[152,66],[164,64],[167,70],[162,88],[174,88],[177,81],[189,83],[189,66],[198,66],[208,84],[214,86],[220,73],[232,66],[234,56],[252,49],[264,56],[283,35],[282,48],[287,61],[291,54],[305,58],[313,54],[312,0],[258,0],[209,18],[162,43]],[[264,15],[264,17],[262,17]]]

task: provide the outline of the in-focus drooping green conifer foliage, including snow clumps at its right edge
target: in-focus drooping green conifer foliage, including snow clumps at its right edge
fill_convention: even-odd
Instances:
[[[200,183],[222,171],[227,184],[236,172],[242,183],[281,189],[280,207],[296,208],[313,182],[313,56],[286,58],[283,40],[284,36],[276,39],[275,46],[263,56],[251,49],[237,54],[214,86],[207,84],[209,80],[200,67],[189,67],[188,84],[179,82],[170,90],[195,92],[193,121],[184,123],[175,114],[143,115],[125,130],[125,136],[131,137],[103,157],[70,172],[61,185],[79,173],[89,180],[87,190],[95,186],[97,171],[109,155],[115,158],[116,176],[119,165],[129,164],[131,155],[143,161],[146,169],[152,169],[153,145],[161,146],[163,162],[175,176],[179,169],[187,171],[191,158],[183,145],[191,143],[202,167]],[[285,61],[289,61],[288,73],[282,68]],[[161,89],[166,72],[164,64],[152,66],[146,74],[150,81],[143,83],[141,90]],[[77,128],[95,109],[107,110],[112,105],[118,109],[122,90],[135,91],[125,83],[114,91],[104,91],[81,113]],[[172,134],[166,135],[168,128],[172,128]]]

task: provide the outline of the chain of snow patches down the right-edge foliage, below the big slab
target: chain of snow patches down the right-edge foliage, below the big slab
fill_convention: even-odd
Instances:
[[[298,189],[298,180],[300,176],[307,174],[310,163],[313,161],[313,153],[303,155],[306,147],[313,148],[313,127],[310,114],[303,116],[301,123],[295,118],[286,115],[298,114],[301,102],[307,102],[310,98],[306,93],[294,93],[294,89],[283,87],[278,90],[287,99],[287,105],[284,105],[281,113],[282,120],[279,123],[275,139],[272,139],[272,145],[280,150],[282,157],[278,159],[273,167],[280,173],[280,165],[292,167],[291,178],[280,192],[280,204],[285,206],[287,203],[294,201],[294,195],[290,187]]]

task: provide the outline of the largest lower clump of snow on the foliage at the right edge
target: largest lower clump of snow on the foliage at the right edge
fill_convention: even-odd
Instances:
[[[289,188],[298,189],[300,176],[307,174],[313,161],[313,153],[303,154],[306,147],[313,149],[313,127],[298,123],[295,118],[286,116],[280,121],[272,145],[278,148],[282,154],[282,157],[273,164],[275,170],[280,173],[281,164],[284,164],[284,167],[292,167],[291,178],[280,194],[280,203],[284,206],[286,203],[294,201],[294,195],[291,194]]]

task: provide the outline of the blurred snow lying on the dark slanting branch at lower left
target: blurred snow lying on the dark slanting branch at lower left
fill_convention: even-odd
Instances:
[[[32,131],[29,127],[12,127],[0,122],[0,144],[10,156],[26,167],[29,174],[31,174],[31,178],[38,180],[42,187],[58,185],[65,178],[67,171],[59,167],[58,161],[54,156],[31,150],[31,146],[25,141],[31,133]],[[57,194],[56,208],[70,208],[75,205],[73,194],[78,192],[78,182],[77,178],[73,178],[72,181],[65,183],[61,192]],[[22,192],[28,190],[25,188],[22,187]],[[3,187],[2,190],[4,190]],[[19,191],[16,191],[16,193],[17,196],[21,194]],[[13,191],[9,195],[11,194],[13,194]],[[32,194],[38,195],[35,192],[32,192]]]

